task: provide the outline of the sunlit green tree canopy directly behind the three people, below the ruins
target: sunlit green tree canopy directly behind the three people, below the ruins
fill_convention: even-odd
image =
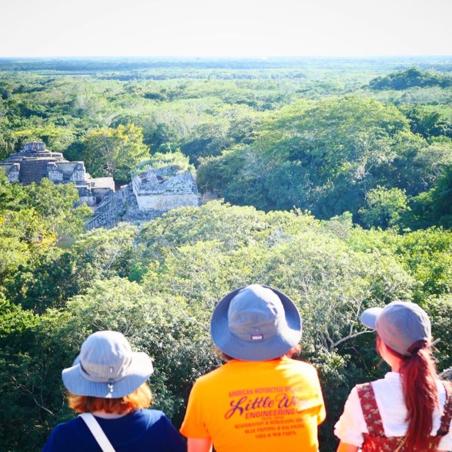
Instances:
[[[141,231],[98,229],[67,250],[52,245],[34,276],[15,266],[15,280],[28,278],[28,290],[42,290],[45,306],[3,284],[0,380],[11,412],[0,422],[16,426],[3,428],[5,444],[36,449],[51,426],[71,416],[60,369],[87,334],[103,328],[124,332],[154,357],[156,406],[179,422],[193,380],[219,364],[209,337],[213,307],[234,287],[259,281],[282,289],[302,312],[302,359],[321,372],[329,412],[321,438],[323,450],[332,450],[332,423],[350,387],[382,373],[360,312],[412,299],[449,330],[451,317],[439,307],[452,284],[451,246],[442,229],[398,236],[353,227],[349,215],[319,221],[219,202],[171,211]],[[452,364],[449,344],[438,348],[444,369]]]

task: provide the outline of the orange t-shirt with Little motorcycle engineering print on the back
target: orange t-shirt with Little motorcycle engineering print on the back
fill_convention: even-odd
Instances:
[[[305,362],[233,360],[196,380],[181,426],[211,438],[217,452],[318,451],[325,406],[317,372]]]

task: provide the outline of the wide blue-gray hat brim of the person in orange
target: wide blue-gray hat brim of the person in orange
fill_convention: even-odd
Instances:
[[[301,339],[302,321],[300,313],[293,301],[284,293],[269,286],[277,294],[284,307],[287,327],[270,339],[257,341],[245,341],[236,337],[229,330],[227,312],[232,298],[239,293],[243,287],[227,294],[216,306],[211,318],[211,337],[215,344],[223,353],[237,360],[243,361],[266,361],[273,360],[284,355]]]

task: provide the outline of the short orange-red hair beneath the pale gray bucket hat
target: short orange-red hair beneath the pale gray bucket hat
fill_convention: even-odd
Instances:
[[[67,403],[72,410],[78,413],[104,411],[106,413],[125,414],[147,408],[152,402],[151,388],[144,382],[131,394],[120,398],[102,398],[92,396],[76,396],[69,393]]]

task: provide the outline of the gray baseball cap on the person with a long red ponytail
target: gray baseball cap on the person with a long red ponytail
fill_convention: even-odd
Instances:
[[[380,339],[401,355],[410,356],[417,341],[430,341],[431,325],[426,312],[416,303],[394,301],[366,309],[361,323],[378,332]]]

